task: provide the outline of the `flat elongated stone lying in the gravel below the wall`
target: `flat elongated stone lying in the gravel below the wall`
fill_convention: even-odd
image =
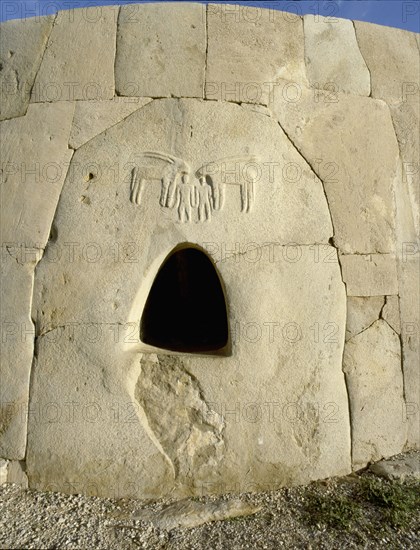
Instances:
[[[253,506],[240,500],[204,503],[185,499],[169,504],[158,512],[139,510],[130,519],[150,521],[159,529],[170,531],[178,527],[192,529],[212,521],[250,516],[260,510],[261,506]]]

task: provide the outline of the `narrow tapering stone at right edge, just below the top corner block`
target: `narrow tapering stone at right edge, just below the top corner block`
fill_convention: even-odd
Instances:
[[[420,78],[417,82],[420,81]],[[419,84],[420,85],[420,84]],[[404,184],[407,182],[414,227],[420,234],[420,99],[390,105],[400,147]]]

